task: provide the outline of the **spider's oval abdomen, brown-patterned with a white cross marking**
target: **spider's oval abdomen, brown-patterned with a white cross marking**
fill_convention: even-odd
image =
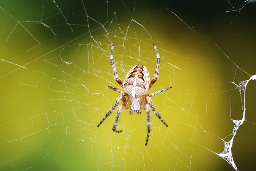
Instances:
[[[123,87],[134,98],[145,94],[149,87],[147,68],[143,65],[135,65],[126,75]]]

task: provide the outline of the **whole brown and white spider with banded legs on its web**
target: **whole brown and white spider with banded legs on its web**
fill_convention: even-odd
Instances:
[[[130,114],[132,114],[133,112],[137,112],[140,114],[142,109],[146,110],[148,133],[147,133],[147,139],[146,139],[145,145],[148,144],[148,139],[149,139],[150,130],[151,130],[150,107],[153,110],[154,114],[157,116],[157,118],[160,119],[161,122],[163,122],[163,125],[168,127],[166,122],[158,113],[157,109],[154,107],[151,97],[156,96],[157,94],[163,93],[166,90],[169,90],[170,88],[172,88],[172,87],[166,87],[162,90],[156,91],[155,93],[145,94],[148,91],[148,89],[150,89],[152,85],[157,81],[158,74],[159,74],[158,70],[160,66],[160,55],[158,53],[157,46],[155,46],[154,44],[153,46],[157,55],[157,66],[156,66],[154,78],[151,80],[151,82],[149,81],[148,70],[143,65],[135,65],[134,67],[132,67],[131,70],[126,75],[124,82],[122,82],[122,80],[117,75],[116,66],[113,60],[114,45],[111,46],[110,63],[113,68],[114,77],[117,83],[120,84],[121,87],[125,90],[125,93],[115,87],[108,86],[110,89],[118,92],[120,96],[117,97],[115,104],[111,107],[110,110],[108,110],[108,113],[105,115],[105,117],[103,117],[101,122],[99,122],[99,125],[101,125],[102,122],[104,122],[105,119],[107,119],[107,117],[110,116],[113,110],[115,110],[115,108],[117,107],[117,105],[121,100],[122,100],[122,104],[119,105],[117,109],[116,119],[112,128],[112,130],[116,133],[122,132],[122,130],[116,130],[117,123],[119,121],[119,117],[122,109],[130,108]]]

